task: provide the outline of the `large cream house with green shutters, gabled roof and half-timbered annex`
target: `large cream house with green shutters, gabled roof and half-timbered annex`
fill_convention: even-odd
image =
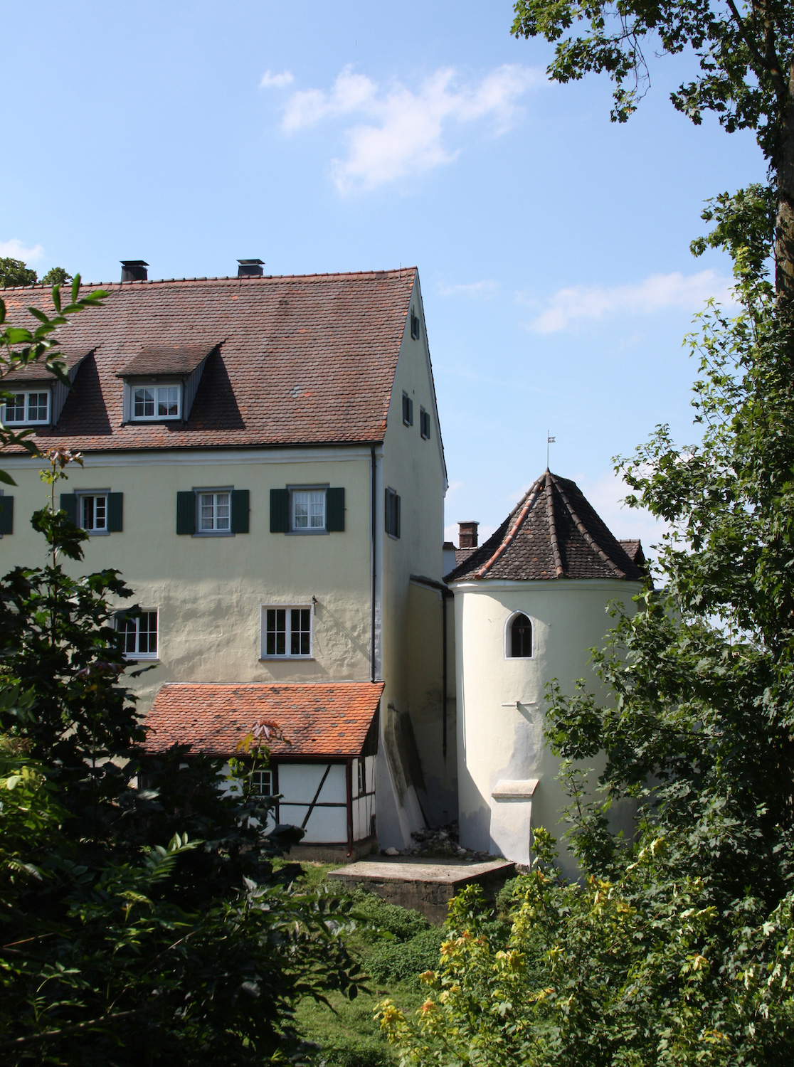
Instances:
[[[280,718],[301,742],[273,748],[264,787],[277,782],[279,817],[348,854],[376,835],[403,847],[456,803],[446,472],[418,273],[270,277],[241,262],[236,277],[147,281],[145,268],[125,264],[105,306],[63,329],[68,394],[42,367],[17,370],[4,420],[84,458],[61,506],[90,534],[80,567],[117,568],[134,591],[141,614],[120,626],[129,658],[156,667],[134,683],[150,746],[189,737],[224,755],[253,717]],[[49,290],[3,299],[27,324]],[[5,573],[43,559],[29,519],[46,490],[41,461],[3,463],[17,482]],[[348,735],[328,730],[328,708]]]

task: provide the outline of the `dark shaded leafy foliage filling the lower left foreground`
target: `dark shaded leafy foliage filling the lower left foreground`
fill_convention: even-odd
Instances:
[[[53,497],[79,458],[49,459]],[[220,761],[187,746],[148,759],[108,602],[130,591],[63,570],[85,539],[64,512],[32,522],[47,564],[0,580],[3,1063],[288,1061],[298,1000],[354,996],[358,968],[329,899],[273,870],[251,784],[267,749],[241,738],[225,793]]]

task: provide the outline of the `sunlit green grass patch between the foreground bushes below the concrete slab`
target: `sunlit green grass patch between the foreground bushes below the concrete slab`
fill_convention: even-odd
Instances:
[[[334,865],[304,863],[306,888],[319,889]],[[332,993],[330,1006],[306,999],[296,1021],[305,1039],[319,1047],[317,1063],[323,1067],[393,1067],[396,1056],[372,1018],[376,1005],[388,997],[407,1014],[416,1012],[426,997],[418,975],[438,967],[443,935],[418,911],[386,904],[375,893],[346,895],[355,923],[346,940],[369,975],[370,992],[352,1001]]]

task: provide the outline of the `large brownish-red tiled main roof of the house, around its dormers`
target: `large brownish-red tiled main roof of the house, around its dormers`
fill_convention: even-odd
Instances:
[[[416,272],[220,277],[86,286],[110,293],[59,331],[91,351],[43,447],[82,451],[383,440]],[[0,290],[9,321],[51,309],[50,290]],[[186,423],[122,425],[116,375],[153,347],[208,357]]]

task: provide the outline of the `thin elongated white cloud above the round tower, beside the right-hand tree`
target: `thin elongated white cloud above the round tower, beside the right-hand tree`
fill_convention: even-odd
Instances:
[[[557,333],[582,320],[598,320],[609,315],[652,315],[671,307],[697,310],[710,297],[732,303],[733,282],[714,270],[698,274],[651,274],[629,285],[575,285],[558,289],[545,301],[533,300],[526,292],[519,300],[540,307],[529,323],[536,333]]]

